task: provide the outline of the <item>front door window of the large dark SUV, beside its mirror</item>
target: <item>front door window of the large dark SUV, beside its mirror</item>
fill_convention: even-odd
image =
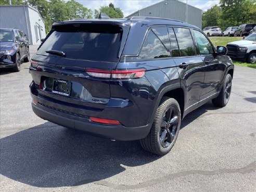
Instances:
[[[201,55],[213,54],[213,48],[211,43],[208,41],[206,36],[204,36],[200,31],[193,30],[197,40],[199,52]]]

